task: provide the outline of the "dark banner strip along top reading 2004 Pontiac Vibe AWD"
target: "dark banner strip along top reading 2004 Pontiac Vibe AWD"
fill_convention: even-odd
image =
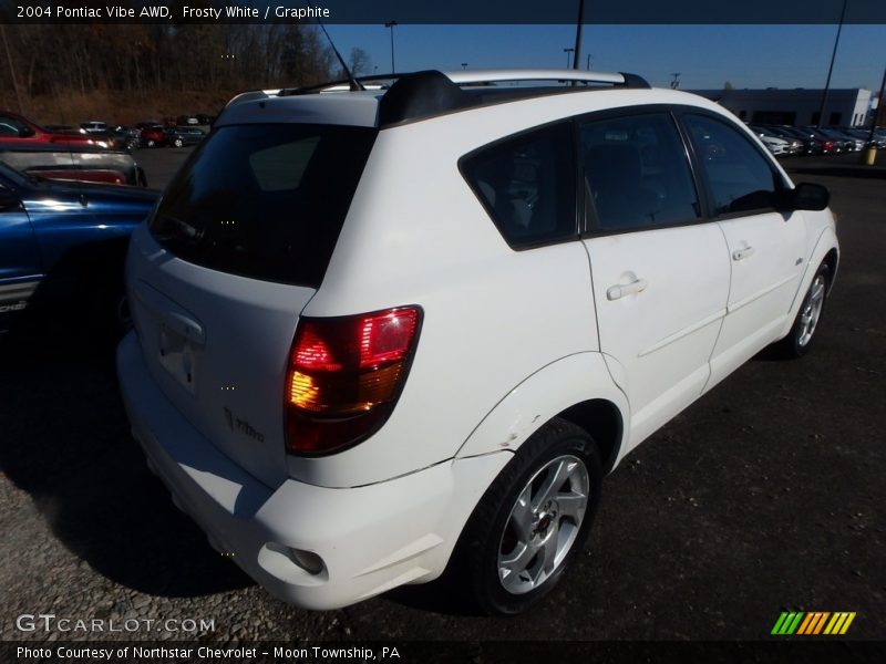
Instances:
[[[0,22],[16,23],[323,23],[836,24],[844,0],[0,0]],[[886,1],[845,0],[844,23],[886,24]]]

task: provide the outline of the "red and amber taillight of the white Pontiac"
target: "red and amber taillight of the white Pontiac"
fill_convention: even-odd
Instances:
[[[286,378],[286,447],[340,452],[375,433],[403,387],[421,325],[418,307],[302,318]]]

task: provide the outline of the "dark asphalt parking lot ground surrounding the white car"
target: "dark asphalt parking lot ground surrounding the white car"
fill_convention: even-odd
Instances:
[[[158,187],[188,152],[136,158]],[[789,610],[856,612],[848,637],[886,640],[886,166],[856,162],[785,162],[839,217],[813,353],[752,360],[625,459],[569,581],[516,619],[465,615],[439,585],[322,613],[270,598],[147,470],[110,344],[76,329],[3,340],[0,640],[731,641],[770,639]],[[17,624],[39,613],[174,622]]]

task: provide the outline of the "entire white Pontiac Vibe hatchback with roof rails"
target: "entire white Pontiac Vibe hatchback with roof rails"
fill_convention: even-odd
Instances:
[[[517,613],[632,447],[764,346],[810,349],[827,191],[631,74],[365,82],[236,97],[133,235],[132,430],[287,601],[446,571]]]

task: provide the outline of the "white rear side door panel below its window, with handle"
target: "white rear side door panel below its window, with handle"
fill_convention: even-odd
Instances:
[[[729,294],[723,235],[712,224],[585,240],[594,273],[600,349],[618,361],[631,404],[629,447],[692,403]],[[642,291],[610,289],[643,280]]]

